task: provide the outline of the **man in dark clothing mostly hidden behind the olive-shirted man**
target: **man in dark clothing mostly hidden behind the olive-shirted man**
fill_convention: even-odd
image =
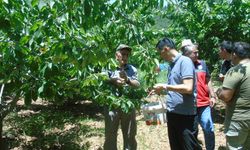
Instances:
[[[232,52],[232,42],[230,41],[223,41],[219,45],[219,56],[223,59],[223,63],[220,69],[219,80],[223,82],[224,76],[227,71],[232,67],[231,63],[231,52]]]

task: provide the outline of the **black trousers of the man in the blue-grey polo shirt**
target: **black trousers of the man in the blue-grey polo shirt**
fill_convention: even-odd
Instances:
[[[171,150],[201,150],[197,133],[196,115],[167,113],[168,138]]]

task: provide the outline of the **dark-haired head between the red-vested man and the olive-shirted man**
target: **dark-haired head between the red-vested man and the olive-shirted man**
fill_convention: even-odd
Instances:
[[[230,41],[223,41],[222,43],[220,43],[219,49],[220,58],[230,60],[230,55],[233,50],[233,43]]]

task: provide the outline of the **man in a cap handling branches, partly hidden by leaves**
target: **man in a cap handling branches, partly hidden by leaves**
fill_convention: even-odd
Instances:
[[[119,68],[109,73],[110,83],[117,89],[122,86],[138,87],[140,83],[137,80],[137,70],[134,66],[127,64],[132,49],[125,44],[118,46],[116,51],[116,59],[119,62]],[[119,90],[115,93],[118,97],[122,93]],[[129,113],[123,112],[121,109],[105,109],[105,143],[104,150],[117,149],[117,131],[121,123],[121,129],[124,140],[124,149],[136,150],[136,114],[135,109]]]

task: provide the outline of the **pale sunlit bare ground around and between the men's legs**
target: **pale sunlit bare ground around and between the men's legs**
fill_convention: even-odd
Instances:
[[[213,109],[213,119],[215,126],[215,149],[225,149],[225,136],[223,133],[223,110],[224,105],[218,101],[217,105]],[[141,112],[137,114],[137,142],[138,150],[170,150],[167,124],[162,125],[146,125]],[[94,124],[95,127],[104,127],[104,122],[100,121]],[[201,142],[203,149],[205,150],[204,136],[201,127],[199,126],[198,139]],[[101,150],[104,142],[104,137],[91,137],[85,139],[85,142],[89,142],[91,150]],[[118,149],[123,149],[122,132],[118,131]]]

